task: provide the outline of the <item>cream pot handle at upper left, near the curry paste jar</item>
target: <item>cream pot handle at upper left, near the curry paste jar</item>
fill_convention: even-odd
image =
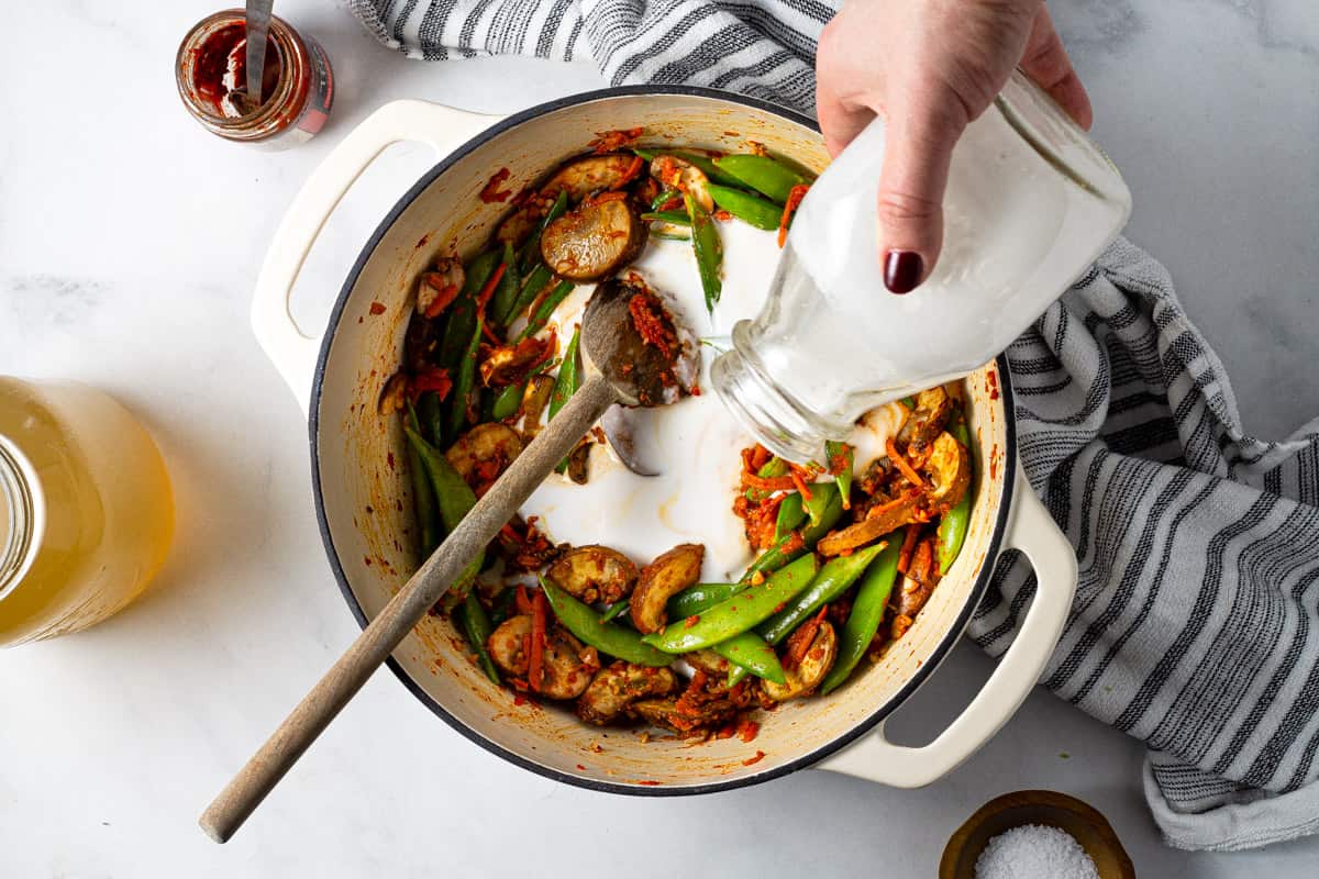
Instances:
[[[339,199],[390,144],[425,141],[443,156],[500,119],[423,100],[396,100],[348,132],[302,184],[261,264],[252,298],[252,331],[266,357],[293,389],[303,414],[311,403],[311,376],[321,339],[305,335],[294,323],[289,295],[307,252]]]

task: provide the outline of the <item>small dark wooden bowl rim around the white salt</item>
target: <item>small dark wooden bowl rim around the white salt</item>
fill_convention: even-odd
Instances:
[[[989,800],[948,839],[939,879],[973,879],[976,859],[993,837],[1026,824],[1064,830],[1095,862],[1100,879],[1136,879],[1136,867],[1112,825],[1093,807],[1055,791],[1017,791]]]

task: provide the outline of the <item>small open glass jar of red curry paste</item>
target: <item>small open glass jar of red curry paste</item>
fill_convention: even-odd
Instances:
[[[330,116],[334,74],[315,40],[270,16],[260,107],[247,98],[247,18],[227,9],[199,21],[178,47],[178,94],[206,130],[232,141],[286,149]]]

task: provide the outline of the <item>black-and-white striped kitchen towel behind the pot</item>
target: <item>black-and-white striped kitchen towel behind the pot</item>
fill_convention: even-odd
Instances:
[[[426,59],[590,57],[609,82],[689,83],[814,109],[818,0],[350,0]],[[1076,547],[1042,679],[1149,747],[1171,845],[1319,832],[1319,420],[1246,436],[1163,268],[1119,241],[1008,351],[1021,457]],[[971,623],[1000,655],[1034,593],[1005,556]]]

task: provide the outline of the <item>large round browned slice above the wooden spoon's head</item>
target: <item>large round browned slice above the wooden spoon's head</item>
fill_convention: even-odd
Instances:
[[[646,235],[646,224],[628,199],[588,200],[545,228],[541,256],[562,278],[599,281],[637,258]]]

